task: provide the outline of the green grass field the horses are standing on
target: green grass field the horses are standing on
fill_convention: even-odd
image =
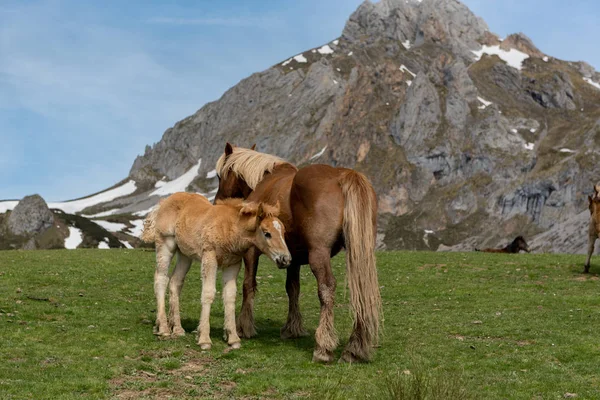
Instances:
[[[195,344],[197,264],[183,289],[188,335],[157,340],[153,259],[140,250],[0,252],[0,398],[600,398],[600,260],[583,275],[583,256],[379,253],[385,322],[373,362],[317,365],[312,336],[279,339],[285,272],[265,260],[259,336],[241,350],[222,341],[220,297],[212,350]],[[344,258],[333,265],[339,357],[352,321]],[[308,268],[302,285],[314,334]]]

